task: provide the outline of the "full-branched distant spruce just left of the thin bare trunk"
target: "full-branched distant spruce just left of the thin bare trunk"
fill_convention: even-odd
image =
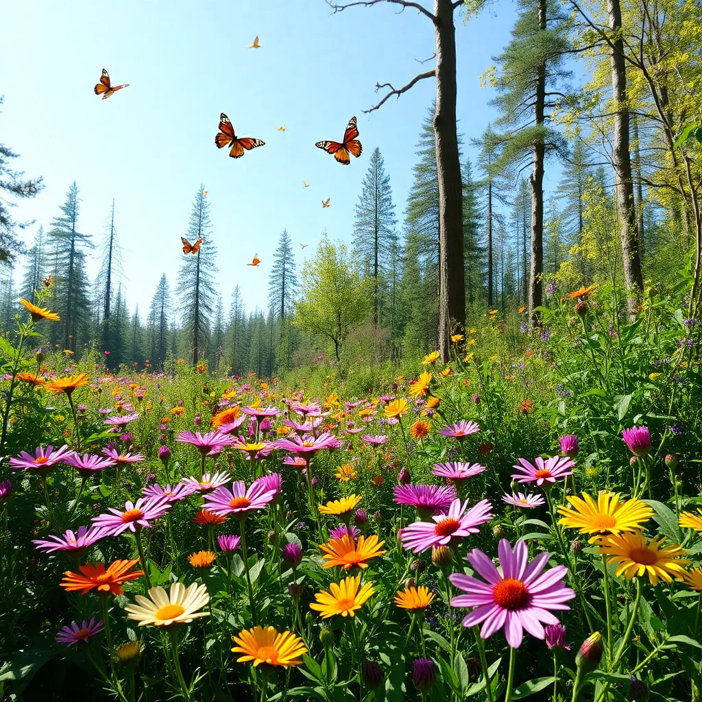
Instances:
[[[89,234],[78,231],[78,186],[69,187],[66,201],[60,206],[48,236],[55,246],[55,298],[61,314],[63,343],[75,351],[79,327],[90,316],[88,277],[85,270],[85,249],[92,249]]]

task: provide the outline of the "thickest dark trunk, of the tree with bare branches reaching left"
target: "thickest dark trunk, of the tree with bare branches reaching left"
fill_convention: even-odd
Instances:
[[[439,352],[449,359],[451,326],[465,328],[463,180],[456,126],[456,28],[451,0],[434,0],[437,103],[434,135],[439,181]]]

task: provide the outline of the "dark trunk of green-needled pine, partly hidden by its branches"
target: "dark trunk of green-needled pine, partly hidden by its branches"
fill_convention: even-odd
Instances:
[[[538,0],[538,27],[546,29],[546,0]],[[546,100],[546,62],[536,73],[536,94],[534,99],[534,124],[544,122]],[[531,265],[529,267],[529,315],[535,318],[534,309],[543,299],[543,143],[534,146],[534,170],[529,178],[531,185]]]

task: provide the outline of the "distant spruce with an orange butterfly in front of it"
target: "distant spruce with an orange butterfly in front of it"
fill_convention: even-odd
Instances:
[[[210,206],[200,185],[192,204],[186,237],[191,244],[202,237],[196,254],[184,253],[178,273],[178,298],[186,338],[192,347],[192,364],[197,364],[201,352],[206,350],[211,318],[216,302],[214,274],[217,249],[210,237]]]

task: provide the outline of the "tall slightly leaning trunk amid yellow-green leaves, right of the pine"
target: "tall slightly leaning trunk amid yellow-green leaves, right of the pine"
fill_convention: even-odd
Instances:
[[[641,258],[637,238],[636,212],[634,208],[631,155],[629,153],[629,112],[626,105],[626,69],[624,43],[621,37],[621,6],[619,0],[607,0],[609,29],[612,44],[609,63],[612,74],[612,99],[614,101],[614,135],[612,160],[614,165],[614,194],[621,239],[622,265],[626,288],[630,291],[629,311],[636,310],[637,291],[643,289]]]

